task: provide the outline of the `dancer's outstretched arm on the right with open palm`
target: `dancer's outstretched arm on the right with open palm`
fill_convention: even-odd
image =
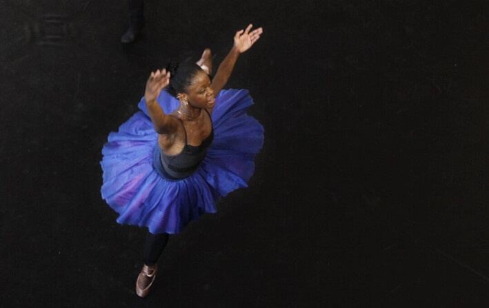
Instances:
[[[236,63],[239,54],[246,52],[250,47],[258,41],[260,34],[263,33],[262,28],[257,28],[250,32],[252,24],[248,25],[246,30],[239,30],[234,35],[234,44],[232,45],[231,51],[224,58],[217,69],[214,79],[212,79],[212,90],[217,95],[224,88],[224,85],[228,83],[228,79],[231,76],[232,69]]]

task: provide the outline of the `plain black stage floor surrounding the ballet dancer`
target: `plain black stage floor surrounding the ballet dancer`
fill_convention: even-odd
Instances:
[[[1,307],[489,307],[484,1],[0,0]],[[101,199],[101,147],[168,59],[225,57],[265,145],[170,243]]]

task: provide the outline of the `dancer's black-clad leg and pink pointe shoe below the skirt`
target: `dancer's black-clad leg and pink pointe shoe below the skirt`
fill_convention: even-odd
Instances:
[[[157,261],[163,249],[165,249],[170,236],[167,233],[151,234],[146,237],[146,246],[144,247],[143,269],[137,276],[136,294],[145,297],[150,292],[150,287],[156,277],[158,266]]]

